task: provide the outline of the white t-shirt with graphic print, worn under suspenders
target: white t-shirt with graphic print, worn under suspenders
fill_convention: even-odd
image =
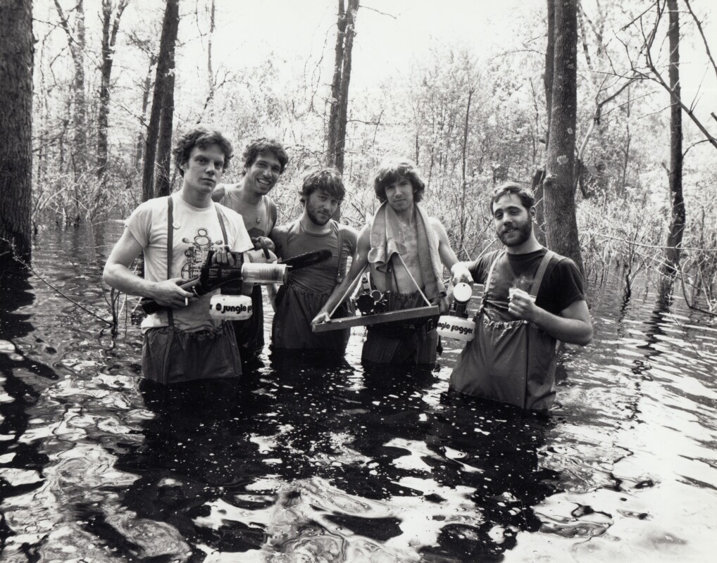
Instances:
[[[179,192],[171,196],[173,202],[174,234],[172,244],[172,277],[191,279],[199,276],[209,250],[228,244],[233,251],[252,250],[254,245],[242,216],[222,205],[212,203],[206,208],[189,205]],[[219,225],[217,208],[224,216],[227,238],[224,241]],[[167,279],[167,198],[154,198],[142,203],[125,221],[125,226],[144,251],[144,277],[151,282]],[[216,292],[214,292],[216,293]],[[206,294],[189,304],[174,309],[174,326],[187,332],[217,327],[221,321],[209,316],[209,299]],[[148,315],[142,322],[142,332],[152,327],[168,325],[166,312]]]

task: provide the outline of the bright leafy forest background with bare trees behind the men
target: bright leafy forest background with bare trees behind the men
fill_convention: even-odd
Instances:
[[[490,191],[519,181],[544,197],[543,240],[589,282],[617,267],[630,291],[640,271],[661,271],[678,276],[693,306],[717,308],[708,1],[1,0],[0,9],[3,256],[14,249],[27,261],[41,228],[123,218],[177,188],[172,137],[203,123],[234,142],[226,182],[239,181],[248,139],[285,144],[291,160],[272,191],[280,223],[300,213],[303,174],[335,165],[348,189],[342,220],[361,226],[378,203],[373,171],[400,155],[422,170],[424,204],[461,259],[495,244]]]

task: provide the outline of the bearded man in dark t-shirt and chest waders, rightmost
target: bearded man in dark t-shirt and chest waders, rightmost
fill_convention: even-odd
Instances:
[[[533,232],[535,199],[505,183],[490,199],[504,248],[452,267],[452,280],[484,284],[475,323],[452,372],[456,390],[531,410],[555,398],[556,341],[587,345],[592,320],[571,259],[543,248]]]

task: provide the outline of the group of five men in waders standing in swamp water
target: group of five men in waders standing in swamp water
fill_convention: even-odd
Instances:
[[[196,276],[192,269],[203,264],[209,250],[214,250],[214,262],[229,266],[234,261],[229,250],[244,253],[246,261],[273,259],[273,250],[280,259],[331,251],[331,259],[293,272],[279,289],[272,323],[275,350],[328,350],[343,356],[349,329],[316,334],[312,327],[330,317],[352,316],[348,295],[361,278],[370,284],[365,289],[379,296],[383,312],[426,305],[447,312],[444,268],[452,271],[454,283],[484,284],[476,335],[460,355],[451,387],[522,408],[544,410],[553,403],[558,340],[585,345],[592,339],[579,271],[538,243],[532,193],[518,184],[501,186],[491,198],[504,249],[467,263],[457,261],[445,227],[419,203],[425,184],[410,160],[381,164],[374,178],[380,206],[357,236],[332,218],[346,189],[331,168],[306,176],[300,218],[275,226],[277,209],[267,194],[288,163],[275,141],[257,139],[247,145],[242,181],[232,185],[218,185],[232,156],[220,133],[193,130],[180,138],[175,154],[181,190],[136,209],[105,266],[108,284],[152,297],[167,308],[143,322],[143,375],[150,380],[236,376],[241,373],[239,353],[250,359],[262,350],[260,286],[244,287],[252,295],[253,314],[232,327],[210,317],[209,296],[197,299],[177,285]],[[212,205],[212,200],[219,203]],[[146,279],[129,271],[140,251],[145,253]],[[436,321],[424,316],[367,327],[362,361],[435,365]]]

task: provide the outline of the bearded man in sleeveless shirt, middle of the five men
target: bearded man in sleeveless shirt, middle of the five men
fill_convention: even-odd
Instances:
[[[351,329],[315,335],[311,320],[326,303],[333,289],[346,277],[348,256],[356,252],[356,231],[333,221],[339,203],[346,196],[338,170],[322,168],[308,174],[299,194],[303,213],[296,221],[276,227],[271,239],[276,254],[289,259],[320,249],[331,250],[331,260],[294,271],[290,282],[279,289],[272,323],[275,350],[326,350],[343,357]],[[336,317],[349,314],[348,302]]]

